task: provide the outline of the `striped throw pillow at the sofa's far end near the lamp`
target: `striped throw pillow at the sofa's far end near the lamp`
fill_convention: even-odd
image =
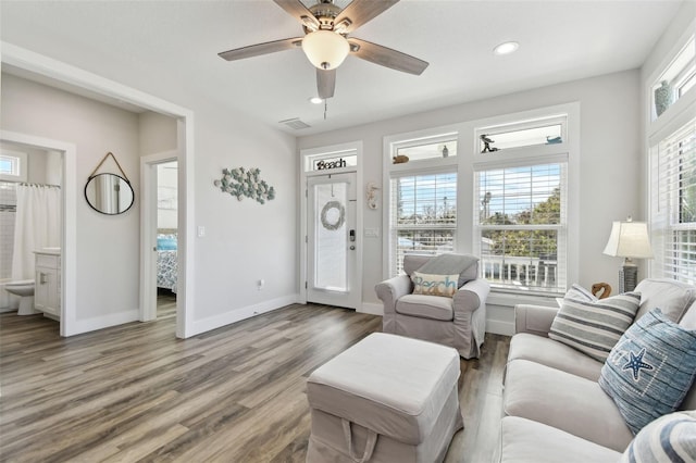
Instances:
[[[633,323],[639,305],[639,292],[597,301],[563,299],[548,337],[604,362]]]

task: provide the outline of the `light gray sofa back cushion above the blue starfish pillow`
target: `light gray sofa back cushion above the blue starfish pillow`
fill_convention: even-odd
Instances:
[[[641,293],[641,309],[635,318],[638,320],[655,308],[672,322],[679,322],[694,300],[696,287],[668,278],[645,278],[635,291]]]

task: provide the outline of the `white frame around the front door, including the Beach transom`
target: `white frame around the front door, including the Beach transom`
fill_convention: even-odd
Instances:
[[[357,166],[351,167],[341,167],[341,168],[332,168],[325,171],[310,171],[309,166],[311,165],[311,160],[313,158],[326,155],[338,155],[341,152],[346,151],[355,151],[357,154]],[[307,179],[308,177],[318,176],[318,175],[327,175],[327,174],[345,174],[345,173],[356,173],[356,243],[358,249],[356,251],[356,311],[359,311],[362,306],[362,255],[363,255],[363,212],[364,212],[364,195],[361,195],[361,191],[364,190],[362,185],[362,141],[352,141],[340,145],[332,145],[321,148],[311,148],[300,150],[300,188],[298,191],[300,199],[300,272],[299,272],[299,280],[298,285],[298,293],[299,293],[299,303],[307,303],[307,281],[308,281],[308,263],[309,259],[309,250],[308,250],[308,229],[307,229],[307,212],[308,212],[308,190],[307,190]]]

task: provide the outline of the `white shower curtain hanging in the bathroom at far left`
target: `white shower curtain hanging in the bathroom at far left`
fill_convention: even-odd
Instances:
[[[34,251],[61,246],[62,201],[59,187],[17,185],[12,279],[34,279]]]

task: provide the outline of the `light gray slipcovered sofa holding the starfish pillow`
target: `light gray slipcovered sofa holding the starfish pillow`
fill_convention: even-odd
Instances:
[[[636,321],[654,308],[696,329],[696,287],[645,279]],[[558,309],[519,304],[505,374],[500,449],[505,463],[616,463],[634,438],[598,384],[602,362],[547,335]],[[696,409],[692,386],[682,410]]]

